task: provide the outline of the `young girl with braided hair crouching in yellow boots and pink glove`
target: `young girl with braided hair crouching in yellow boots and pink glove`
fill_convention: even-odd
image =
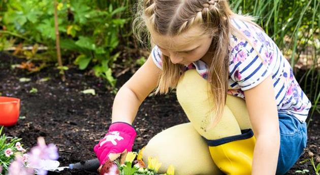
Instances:
[[[175,174],[287,172],[306,147],[311,103],[275,43],[227,1],[140,5],[136,28],[145,24],[154,47],[114,99],[109,132],[94,147],[101,164],[132,150],[131,124],[148,94],[176,88],[190,123],[146,146],[144,159],[156,156],[160,172],[169,164]]]

